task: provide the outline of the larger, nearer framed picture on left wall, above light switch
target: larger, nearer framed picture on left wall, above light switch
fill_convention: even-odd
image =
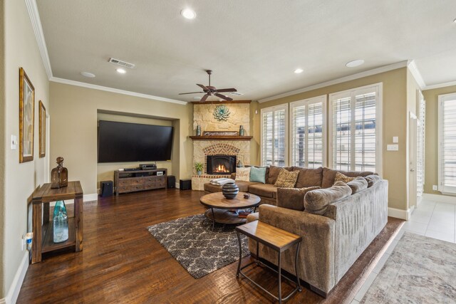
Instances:
[[[19,69],[19,162],[33,160],[35,88],[24,68]]]

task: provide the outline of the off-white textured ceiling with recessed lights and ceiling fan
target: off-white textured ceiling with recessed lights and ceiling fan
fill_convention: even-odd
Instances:
[[[259,100],[405,60],[456,80],[454,0],[39,0],[53,76],[192,101],[207,84]],[[191,7],[194,20],[180,10]],[[110,57],[134,63],[120,75]],[[346,68],[354,59],[366,63]],[[295,68],[304,73],[294,74]],[[96,78],[85,78],[88,71]]]

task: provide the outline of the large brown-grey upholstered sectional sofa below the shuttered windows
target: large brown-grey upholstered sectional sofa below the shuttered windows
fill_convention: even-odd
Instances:
[[[280,169],[266,169],[265,184],[237,182],[240,191],[261,197],[259,212],[250,214],[247,221],[264,221],[302,236],[299,277],[311,285],[311,290],[326,297],[385,227],[388,181],[373,172],[285,167],[288,171],[299,170],[296,185],[277,188],[274,183]],[[337,172],[356,179],[335,182]],[[204,190],[218,192],[221,188],[205,184]],[[256,252],[252,239],[249,249]],[[282,267],[289,273],[294,273],[294,250],[282,255]],[[276,264],[277,253],[261,244],[259,256]]]

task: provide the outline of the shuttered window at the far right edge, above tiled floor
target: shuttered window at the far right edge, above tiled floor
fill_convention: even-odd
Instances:
[[[456,93],[439,95],[439,191],[456,194]]]

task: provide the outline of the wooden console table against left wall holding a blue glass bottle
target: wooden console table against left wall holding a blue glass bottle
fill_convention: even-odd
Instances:
[[[49,202],[74,199],[74,217],[68,218],[68,240],[53,242],[53,221],[49,221]],[[75,247],[83,250],[83,188],[81,182],[68,182],[67,187],[52,189],[51,183],[43,184],[33,194],[31,263],[41,262],[41,253]]]

